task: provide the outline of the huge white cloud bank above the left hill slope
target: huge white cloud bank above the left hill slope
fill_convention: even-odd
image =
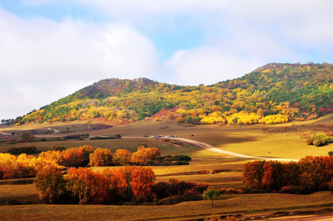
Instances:
[[[100,79],[152,78],[154,45],[124,24],[21,19],[0,8],[0,118],[15,118]],[[18,108],[20,106],[20,108]]]

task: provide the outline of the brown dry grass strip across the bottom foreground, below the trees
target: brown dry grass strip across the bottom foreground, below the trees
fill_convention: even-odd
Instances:
[[[18,205],[0,206],[2,220],[198,220],[219,215],[261,215],[272,212],[314,210],[333,206],[330,192],[310,195],[222,195],[214,201],[191,201],[165,206]],[[73,212],[75,211],[75,212]]]

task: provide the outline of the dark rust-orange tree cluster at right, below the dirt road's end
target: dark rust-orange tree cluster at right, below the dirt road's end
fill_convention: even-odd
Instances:
[[[309,193],[332,179],[333,156],[306,156],[297,163],[254,161],[243,167],[243,183],[250,191]]]

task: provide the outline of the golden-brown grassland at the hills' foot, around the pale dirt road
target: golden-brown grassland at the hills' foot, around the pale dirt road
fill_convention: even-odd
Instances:
[[[183,125],[173,123],[171,120],[168,119],[168,117],[162,117],[161,119],[161,121],[156,122],[152,118],[149,118],[125,126],[115,125],[114,127],[109,129],[94,131],[87,131],[87,125],[82,122],[56,122],[52,125],[44,125],[45,123],[43,123],[42,125],[31,124],[30,126],[22,125],[12,128],[27,129],[37,125],[39,128],[52,127],[58,130],[66,130],[69,124],[74,124],[73,130],[81,131],[85,129],[85,133],[89,133],[92,136],[114,136],[115,134],[121,134],[123,137],[143,137],[144,135],[177,135],[181,138],[187,138],[208,143],[223,150],[235,153],[270,158],[300,159],[308,155],[327,155],[328,151],[331,151],[333,149],[331,147],[332,145],[315,147],[309,146],[305,143],[305,137],[316,133],[322,133],[325,131],[327,132],[330,130],[328,127],[333,121],[332,114],[312,121],[295,122],[295,125],[288,123],[265,126],[246,125],[244,127],[218,125],[199,125],[194,127],[184,127]],[[318,127],[318,125],[324,125],[327,128],[323,126]],[[7,129],[8,130],[6,130],[6,132],[11,132],[9,128]],[[77,131],[75,133],[58,135],[61,136],[76,133]],[[83,131],[81,133],[83,133]],[[193,134],[194,136],[190,136],[191,134]],[[73,144],[73,142],[57,142],[57,144],[63,145],[65,147],[76,147],[82,144],[87,144],[103,148],[127,148],[131,152],[133,152],[136,149],[138,143],[145,143],[151,146],[157,146],[161,148],[162,154],[167,155],[171,153],[172,155],[172,153],[177,153],[177,150],[172,150],[172,148],[169,148],[168,150],[163,149],[166,146],[162,143],[159,143],[158,141],[154,141],[154,138],[149,137],[144,140],[139,138],[137,141],[136,138],[130,138],[128,141],[125,140],[126,139],[122,139],[121,141],[75,141],[75,144]],[[279,142],[276,142],[277,140]],[[54,144],[55,143],[53,142],[46,142],[45,144],[34,143],[35,146],[37,145],[37,149],[39,149],[38,146],[40,146],[41,150],[43,151],[47,150],[47,148],[50,148]],[[24,144],[20,144],[17,146],[24,146]],[[1,144],[0,152],[4,152],[4,149],[6,149],[7,147],[8,146]],[[225,157],[223,155],[215,153],[196,151],[198,148],[191,147],[189,145],[187,145],[185,149],[187,150],[181,150],[180,152],[182,152],[183,154],[187,154],[192,158]],[[271,153],[269,154],[268,151],[270,151]]]

